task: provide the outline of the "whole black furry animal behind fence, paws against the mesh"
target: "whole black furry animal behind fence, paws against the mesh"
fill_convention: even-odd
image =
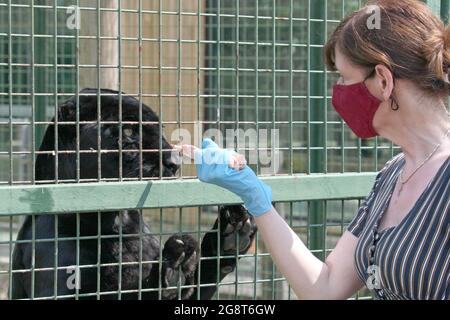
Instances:
[[[102,89],[101,93],[108,94],[108,96],[101,96],[101,121],[118,121],[118,92]],[[82,90],[79,96],[80,121],[96,121],[97,107],[97,90]],[[122,121],[138,121],[139,108],[139,101],[123,96]],[[59,151],[76,150],[75,124],[62,123],[76,121],[76,110],[75,97],[59,107]],[[142,125],[143,149],[159,149],[159,119],[145,104],[142,105],[142,120],[154,122]],[[101,135],[100,146],[97,139],[98,129]],[[142,166],[144,177],[158,177],[160,175],[159,152],[143,153],[142,164],[138,152],[125,152],[127,149],[139,150],[139,125],[123,124],[122,132],[123,177],[139,177],[140,166]],[[171,145],[164,137],[161,138],[162,148],[170,150]],[[98,128],[97,124],[80,124],[79,143],[82,151],[99,150],[99,148],[118,150],[118,125],[102,124],[101,128]],[[54,125],[48,127],[40,147],[40,151],[52,150],[56,150]],[[64,152],[56,154],[58,179],[75,179],[77,155]],[[97,152],[80,154],[81,179],[99,178],[97,157]],[[55,162],[55,154],[39,154],[35,166],[36,180],[48,182],[55,179]],[[171,160],[170,153],[163,153],[162,163],[162,176],[174,176],[179,169],[179,166]],[[117,177],[119,177],[118,152],[102,154],[101,178]],[[19,242],[14,248],[12,297],[14,299],[55,296],[74,298],[74,295],[78,294],[79,296],[75,297],[85,299],[137,299],[139,298],[137,291],[141,288],[142,299],[158,299],[159,297],[162,299],[178,299],[179,297],[210,299],[216,291],[217,279],[222,280],[233,271],[236,259],[222,258],[220,267],[217,268],[216,259],[199,262],[200,256],[234,255],[236,250],[239,253],[245,253],[256,232],[253,219],[239,205],[220,207],[219,217],[213,230],[217,230],[219,225],[220,252],[217,252],[217,232],[207,233],[200,247],[192,236],[175,234],[164,245],[160,266],[157,262],[160,258],[159,240],[150,233],[149,227],[143,222],[142,214],[138,210],[79,213],[78,216],[76,213],[35,215],[34,218],[29,216],[18,234]],[[79,226],[79,234],[77,234],[77,226]],[[102,236],[100,240],[99,233]],[[122,234],[121,238],[120,234]],[[236,241],[236,234],[239,234],[239,243]],[[31,239],[37,241],[33,243]],[[139,261],[143,263],[139,264]],[[123,264],[119,266],[119,262]],[[70,267],[73,266],[79,266],[79,268],[71,269]],[[200,274],[198,274],[199,269]],[[197,292],[195,285],[198,279],[201,284],[212,285],[201,287],[200,292]],[[161,296],[158,291],[145,290],[159,288],[159,284],[162,287]],[[165,289],[177,285],[192,285],[192,287],[183,288],[181,293],[177,289]],[[120,296],[118,291],[121,292]]]

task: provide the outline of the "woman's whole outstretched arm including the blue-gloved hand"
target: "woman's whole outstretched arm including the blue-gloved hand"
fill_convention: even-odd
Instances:
[[[357,238],[346,232],[325,263],[317,259],[272,206],[272,191],[248,167],[233,166],[236,153],[205,139],[202,149],[183,145],[183,154],[195,158],[200,181],[240,196],[255,216],[262,238],[278,268],[299,298],[344,299],[363,286],[354,267]],[[231,167],[238,167],[233,169]]]

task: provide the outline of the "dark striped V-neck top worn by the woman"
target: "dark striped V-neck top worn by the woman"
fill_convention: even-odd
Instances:
[[[377,175],[348,231],[358,237],[358,276],[378,299],[448,300],[450,295],[450,157],[441,166],[411,211],[395,227],[379,232],[370,266],[374,226],[387,210],[402,167],[403,154]],[[370,268],[369,268],[370,266]],[[374,266],[376,271],[374,271]],[[377,279],[373,288],[374,277]]]

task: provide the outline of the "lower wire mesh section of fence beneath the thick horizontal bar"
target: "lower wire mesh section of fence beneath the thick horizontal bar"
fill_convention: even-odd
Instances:
[[[302,240],[310,245],[311,235],[315,230],[323,235],[324,246],[313,250],[320,257],[326,257],[337,243],[346,224],[352,218],[357,209],[358,201],[326,201],[326,217],[323,224],[311,222],[311,202],[278,203],[277,209],[285,214],[292,228]],[[214,212],[214,214],[212,214]],[[214,226],[217,218],[217,207],[197,208],[166,208],[139,211],[142,214],[141,230],[130,230],[127,224],[130,211],[121,211],[119,216],[123,224],[113,234],[104,232],[105,224],[111,220],[111,212],[79,213],[74,216],[58,214],[50,216],[55,221],[54,233],[48,235],[34,229],[31,238],[17,239],[17,232],[26,217],[22,215],[1,218],[2,237],[0,238],[0,284],[2,299],[168,299],[185,298],[185,291],[192,288],[190,298],[213,299],[295,299],[295,294],[289,288],[284,277],[277,271],[272,263],[264,243],[255,235],[254,242],[248,250],[239,251],[228,244],[224,250],[224,220]],[[88,215],[88,216],[87,216]],[[325,215],[325,214],[324,214]],[[117,215],[113,215],[117,218]],[[68,220],[77,225],[75,234],[67,233]],[[31,223],[37,227],[42,226],[40,216],[32,216]],[[90,227],[87,226],[90,225]],[[100,227],[99,227],[100,225]],[[149,230],[146,230],[147,226]],[[148,272],[148,266],[158,270],[166,267],[168,256],[163,253],[163,245],[173,235],[190,235],[202,246],[211,241],[206,240],[206,235],[212,237],[214,245],[219,246],[220,253],[206,254],[204,250],[198,266],[198,273],[192,283],[176,281],[170,285],[166,283],[166,273],[161,272],[160,278],[155,282],[147,282],[152,278]],[[55,236],[56,235],[56,236]],[[235,237],[244,237],[241,233],[233,234],[233,242],[240,241]],[[161,243],[161,247],[148,246],[148,239],[154,239]],[[139,239],[141,244],[137,250],[130,248],[131,241]],[[119,244],[119,241],[122,244]],[[114,244],[123,246],[122,259],[117,260],[108,257],[109,252],[114,251]],[[147,245],[147,246],[146,246]],[[22,254],[25,263],[17,263],[14,257],[14,246],[22,253],[29,247],[32,250],[29,256]],[[76,247],[73,252],[68,247]],[[96,247],[96,250],[92,250]],[[220,248],[220,249],[219,249]],[[99,250],[99,251],[97,251]],[[148,252],[156,250],[153,258],[149,258]],[[93,257],[89,257],[89,252]],[[98,253],[100,252],[100,254]],[[137,256],[130,258],[133,252]],[[139,256],[140,253],[140,256]],[[69,254],[69,256],[67,256]],[[35,262],[26,265],[26,259],[31,258]],[[110,260],[108,260],[110,258]],[[11,264],[13,260],[15,263]],[[70,260],[70,262],[69,262]],[[72,261],[73,260],[73,261]],[[18,267],[20,266],[20,267]],[[225,276],[221,274],[206,274],[208,270],[223,270],[229,267]],[[114,267],[116,269],[114,269]],[[121,268],[121,272],[117,269]],[[140,269],[140,270],[139,270]],[[160,269],[160,270],[161,270]],[[203,271],[202,271],[203,270]],[[109,273],[108,273],[109,271]],[[138,281],[129,282],[130,273],[137,272]],[[108,278],[105,274],[121,274],[123,280],[116,282],[116,286],[106,288],[103,281]],[[139,274],[140,272],[140,274]],[[128,279],[128,281],[125,281]],[[201,281],[203,280],[203,281]],[[34,281],[34,285],[31,283]],[[79,282],[77,282],[79,281]],[[159,283],[158,283],[159,281]],[[121,286],[118,285],[121,283]],[[77,286],[77,284],[79,286]],[[141,285],[139,285],[141,284]],[[27,287],[27,285],[29,287]],[[69,290],[65,290],[65,288]],[[9,290],[8,290],[9,289]],[[208,292],[202,290],[210,289]],[[26,291],[27,295],[21,295]],[[212,291],[212,294],[210,294]],[[368,298],[368,292],[361,292],[355,297]]]

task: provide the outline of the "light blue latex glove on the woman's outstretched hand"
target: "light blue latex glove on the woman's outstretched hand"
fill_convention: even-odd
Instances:
[[[230,168],[230,158],[236,154],[219,148],[211,139],[203,140],[202,149],[194,153],[198,178],[233,192],[244,201],[249,213],[260,216],[272,208],[272,189],[247,165],[242,170]]]

